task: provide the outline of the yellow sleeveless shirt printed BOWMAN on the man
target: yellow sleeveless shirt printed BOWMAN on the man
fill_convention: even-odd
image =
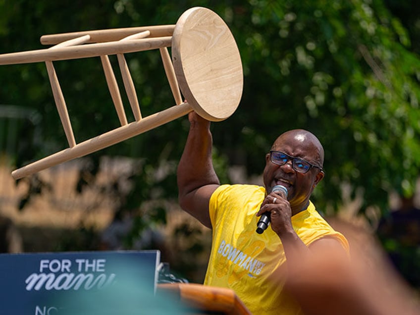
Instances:
[[[204,284],[232,289],[255,315],[300,314],[299,306],[282,292],[286,257],[280,238],[270,227],[256,232],[256,213],[264,198],[264,187],[255,185],[222,185],[212,194],[212,247]],[[306,245],[328,235],[348,251],[346,238],[312,203],[292,216],[292,225]]]

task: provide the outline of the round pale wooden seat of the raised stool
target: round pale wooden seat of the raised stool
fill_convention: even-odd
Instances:
[[[179,87],[202,117],[219,121],[238,107],[243,89],[239,50],[226,23],[213,11],[185,11],[172,35],[172,61]]]

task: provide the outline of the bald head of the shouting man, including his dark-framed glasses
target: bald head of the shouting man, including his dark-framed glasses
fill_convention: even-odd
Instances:
[[[288,189],[293,214],[304,210],[324,177],[323,161],[322,145],[311,132],[295,129],[281,134],[265,156],[263,181],[267,193],[275,185],[283,185]]]

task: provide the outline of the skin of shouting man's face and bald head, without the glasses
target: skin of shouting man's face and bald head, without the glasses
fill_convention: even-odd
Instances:
[[[274,142],[272,150],[283,152],[291,157],[299,157],[314,165],[319,165],[319,150],[311,137],[305,133],[291,132],[281,135]],[[307,173],[293,169],[292,161],[277,165],[270,161],[270,154],[265,156],[263,181],[267,193],[275,185],[283,185],[288,190],[288,200],[292,210],[306,207],[316,184],[324,174],[317,167],[312,167]],[[320,166],[320,165],[319,165]]]

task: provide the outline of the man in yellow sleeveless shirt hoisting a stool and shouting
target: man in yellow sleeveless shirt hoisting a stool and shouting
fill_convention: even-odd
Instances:
[[[299,305],[284,290],[286,279],[305,268],[317,250],[348,251],[344,236],[309,200],[324,177],[321,144],[308,131],[286,132],[265,156],[264,187],[220,185],[211,160],[210,122],[194,112],[188,117],[177,173],[179,203],[212,229],[205,284],[233,289],[253,314],[299,314]],[[287,189],[287,198],[271,191],[276,185]],[[271,223],[258,234],[264,212]]]

